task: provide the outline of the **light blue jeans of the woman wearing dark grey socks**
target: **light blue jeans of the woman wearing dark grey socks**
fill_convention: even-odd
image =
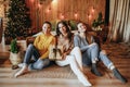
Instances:
[[[82,52],[83,65],[91,65],[95,58],[98,58],[99,61],[102,61],[107,69],[113,65],[113,62],[108,59],[108,57],[100,50],[96,44],[93,44],[84,52]]]

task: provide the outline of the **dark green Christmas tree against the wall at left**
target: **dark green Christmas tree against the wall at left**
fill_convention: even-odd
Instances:
[[[26,37],[27,30],[31,26],[29,9],[26,7],[26,0],[10,0],[10,9],[6,13],[8,24],[4,36],[16,38]]]

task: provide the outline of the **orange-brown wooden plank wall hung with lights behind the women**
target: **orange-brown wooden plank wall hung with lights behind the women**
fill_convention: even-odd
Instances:
[[[44,21],[80,20],[91,25],[99,12],[105,15],[106,0],[26,0],[30,8],[32,28],[41,28]],[[41,1],[41,2],[40,2]],[[94,8],[94,13],[92,9]],[[77,18],[75,14],[78,14]]]

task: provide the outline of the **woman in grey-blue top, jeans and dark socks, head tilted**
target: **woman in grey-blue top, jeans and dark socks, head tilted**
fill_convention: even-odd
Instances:
[[[120,79],[122,83],[127,83],[127,79],[115,67],[105,51],[100,49],[93,36],[87,33],[86,24],[80,22],[77,24],[77,27],[78,34],[74,37],[74,44],[75,47],[79,47],[81,50],[83,64],[92,64],[91,72],[96,76],[102,76],[96,66],[98,61],[102,61],[107,69],[112,70],[116,78]]]

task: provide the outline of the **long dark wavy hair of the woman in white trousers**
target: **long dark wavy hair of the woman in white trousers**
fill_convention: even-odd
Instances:
[[[69,41],[72,41],[73,33],[70,32],[70,28],[68,27],[68,25],[65,21],[61,21],[56,24],[56,36],[60,36],[62,34],[58,28],[60,24],[63,24],[65,26],[66,33],[67,33],[67,38],[69,39]]]

